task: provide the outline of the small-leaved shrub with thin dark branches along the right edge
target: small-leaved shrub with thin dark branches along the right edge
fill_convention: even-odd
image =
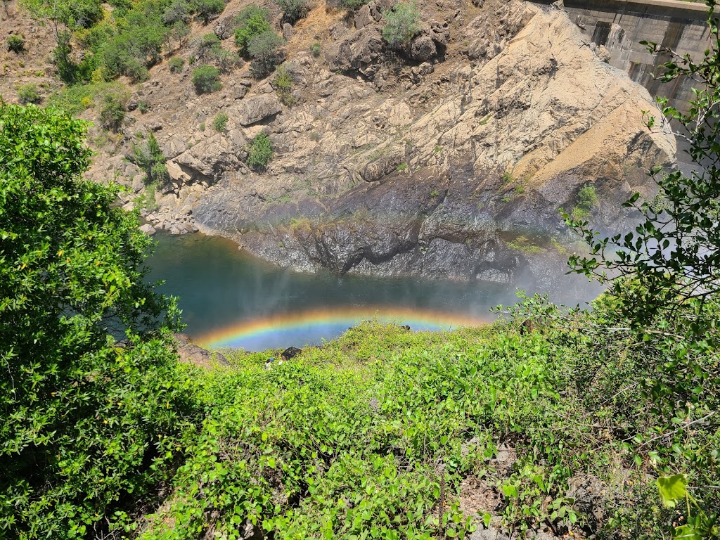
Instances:
[[[687,474],[698,486],[692,495],[695,510],[689,494],[685,511],[679,505],[676,509],[686,525],[668,527],[674,536],[693,539],[713,537],[720,508],[719,431],[713,418],[720,406],[720,156],[716,148],[720,112],[715,107],[720,99],[720,36],[716,1],[706,3],[712,42],[703,58],[697,62],[680,58],[656,43],[646,43],[652,53],[670,55],[664,81],[688,77],[703,83],[695,90],[687,114],[658,99],[665,117],[685,127],[689,153],[698,167],[690,176],[653,169],[660,202],[642,200],[639,194],[628,199],[624,206],[636,210],[640,222],[624,235],[606,238],[587,221],[564,215],[590,248],[590,256],[570,257],[572,270],[607,287],[594,317],[601,317],[598,327],[612,332],[613,339],[595,335],[593,347],[606,355],[632,350],[629,361],[613,365],[625,380],[620,373],[595,367],[606,360],[590,351],[582,369],[595,369],[596,376],[599,372],[606,377],[606,384],[611,383],[606,395],[632,396],[633,402],[621,400],[622,418],[631,426],[624,439],[626,451],[636,466],[647,460],[669,477],[659,482],[665,505],[685,489],[681,475]],[[649,127],[656,122],[648,118]],[[596,196],[588,191],[582,198],[588,207]],[[618,521],[623,519],[627,517],[621,514]],[[660,536],[660,531],[652,532]]]

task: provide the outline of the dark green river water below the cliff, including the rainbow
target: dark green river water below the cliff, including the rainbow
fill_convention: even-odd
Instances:
[[[266,264],[224,238],[158,233],[151,281],[179,297],[186,333],[205,346],[318,344],[367,318],[414,330],[486,323],[490,307],[516,301],[515,287],[488,282],[301,274]]]

